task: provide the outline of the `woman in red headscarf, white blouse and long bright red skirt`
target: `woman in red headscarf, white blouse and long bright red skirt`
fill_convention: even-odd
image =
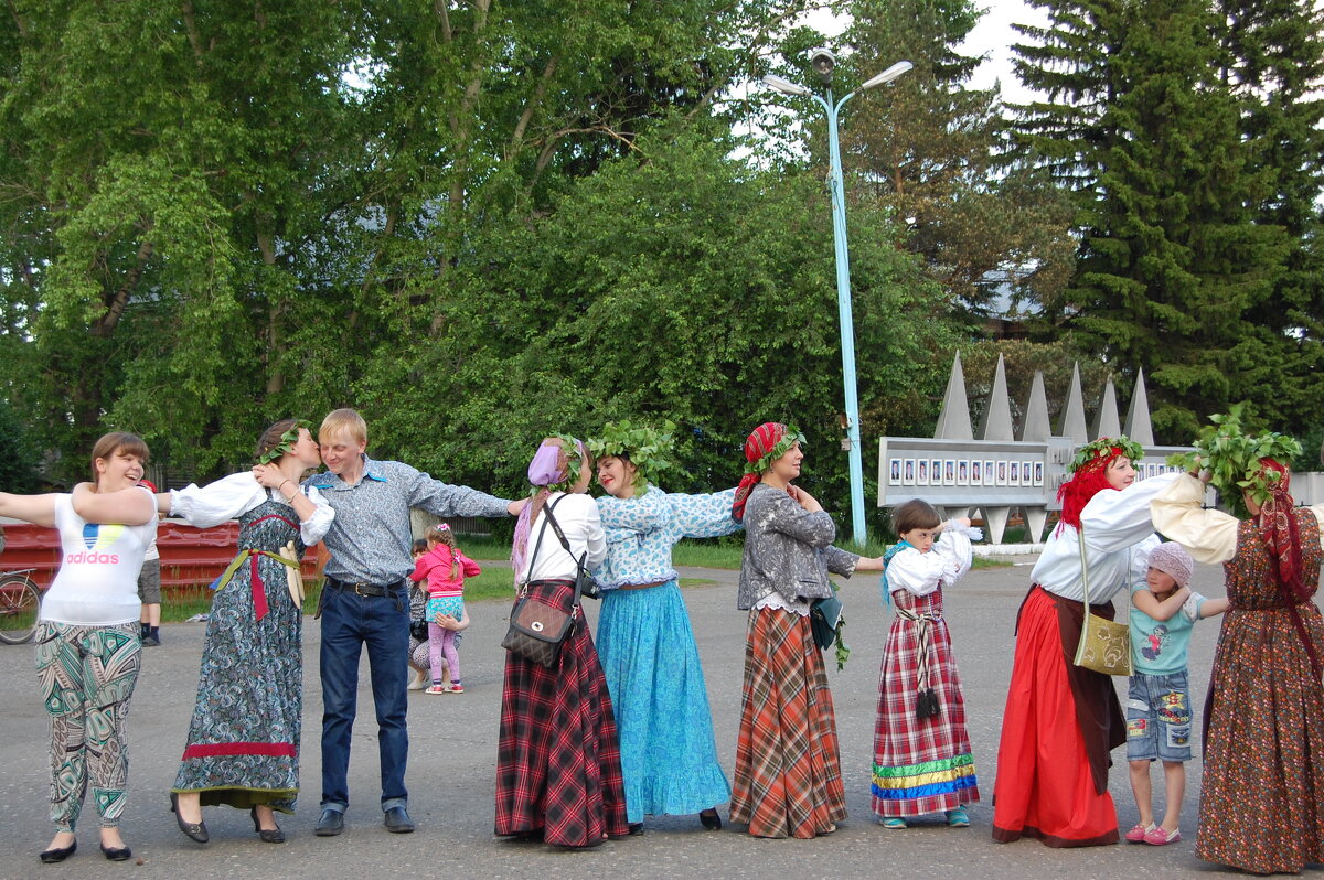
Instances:
[[[1017,617],[1012,684],[1002,716],[993,839],[1022,835],[1050,847],[1116,843],[1117,811],[1108,794],[1108,752],[1125,742],[1125,721],[1107,675],[1075,666],[1088,609],[1112,619],[1113,594],[1145,576],[1157,545],[1149,502],[1176,475],[1136,483],[1144,450],[1125,437],[1086,445],[1058,491],[1062,520],[1031,573]],[[1082,554],[1082,547],[1084,552]]]

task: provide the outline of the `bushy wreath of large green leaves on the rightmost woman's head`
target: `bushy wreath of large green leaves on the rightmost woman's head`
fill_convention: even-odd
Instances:
[[[1301,454],[1300,442],[1286,434],[1247,433],[1242,425],[1243,409],[1245,404],[1234,404],[1226,414],[1210,416],[1211,423],[1200,429],[1194,451],[1168,457],[1169,464],[1186,471],[1209,471],[1209,482],[1238,517],[1250,512],[1242,492],[1249,492],[1263,507],[1274,486],[1283,479],[1282,472],[1264,467],[1260,459],[1271,458],[1287,467]]]

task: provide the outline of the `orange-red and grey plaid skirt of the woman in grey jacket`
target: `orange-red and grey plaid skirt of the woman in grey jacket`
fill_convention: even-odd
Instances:
[[[813,838],[845,818],[837,717],[809,618],[751,611],[731,820],[756,838]]]

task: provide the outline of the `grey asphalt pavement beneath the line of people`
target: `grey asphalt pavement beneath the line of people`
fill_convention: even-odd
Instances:
[[[878,578],[843,584],[846,640],[853,647],[845,671],[830,663],[830,680],[842,748],[842,771],[850,818],[814,840],[763,840],[739,827],[704,831],[698,816],[657,816],[642,835],[589,851],[567,852],[493,836],[496,728],[504,651],[506,602],[473,602],[473,627],[461,658],[463,695],[409,695],[409,813],[418,830],[388,834],[379,809],[376,723],[363,660],[359,720],[350,762],[350,811],[346,832],[316,838],[320,795],[319,737],[322,691],[318,682],[319,627],[303,630],[305,695],[302,785],[298,813],[281,816],[289,842],[261,843],[248,814],[209,807],[212,840],[192,843],[175,827],[167,791],[177,769],[197,685],[204,625],[162,627],[160,647],[144,648],[143,672],[130,711],[130,803],[122,822],[134,858],[109,863],[97,851],[91,805],[83,811],[78,852],[62,864],[44,865],[37,852],[52,836],[48,810],[46,716],[37,697],[32,646],[0,646],[0,877],[579,877],[585,873],[630,877],[706,877],[767,880],[771,876],[828,877],[1180,877],[1219,871],[1194,855],[1198,757],[1188,765],[1181,830],[1169,847],[1119,844],[1086,850],[1050,850],[1035,840],[996,844],[990,836],[993,779],[1000,717],[1012,668],[1016,611],[1029,586],[1033,557],[1016,565],[974,570],[947,593],[947,617],[965,687],[967,715],[982,801],[970,809],[972,827],[948,828],[941,816],[904,831],[879,826],[869,806],[878,668],[888,617]],[[745,614],[735,607],[735,572],[683,569],[683,577],[716,581],[685,590],[703,659],[716,728],[718,750],[728,775],[735,762],[740,713],[740,676]],[[1193,586],[1222,595],[1215,566],[1197,566]],[[587,601],[596,626],[597,603]],[[1190,684],[1198,711],[1209,679],[1218,621],[1202,622],[1192,639]],[[830,660],[830,655],[829,655]],[[1125,683],[1120,682],[1121,696]],[[1198,721],[1197,721],[1198,723]],[[1198,737],[1197,737],[1198,741]],[[1121,828],[1136,822],[1125,752],[1113,753],[1112,795]],[[1161,770],[1153,770],[1162,791]],[[1161,805],[1156,805],[1161,810]],[[726,820],[726,807],[720,810]]]

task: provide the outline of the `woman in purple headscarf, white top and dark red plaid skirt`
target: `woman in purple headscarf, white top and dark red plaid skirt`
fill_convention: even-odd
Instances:
[[[584,445],[569,437],[545,438],[528,466],[534,492],[515,525],[515,584],[572,611],[575,627],[551,668],[506,655],[496,750],[496,835],[576,848],[629,830],[612,697],[584,611],[571,607],[577,561],[593,569],[606,556],[585,494],[591,476]],[[549,528],[553,509],[569,552]]]

